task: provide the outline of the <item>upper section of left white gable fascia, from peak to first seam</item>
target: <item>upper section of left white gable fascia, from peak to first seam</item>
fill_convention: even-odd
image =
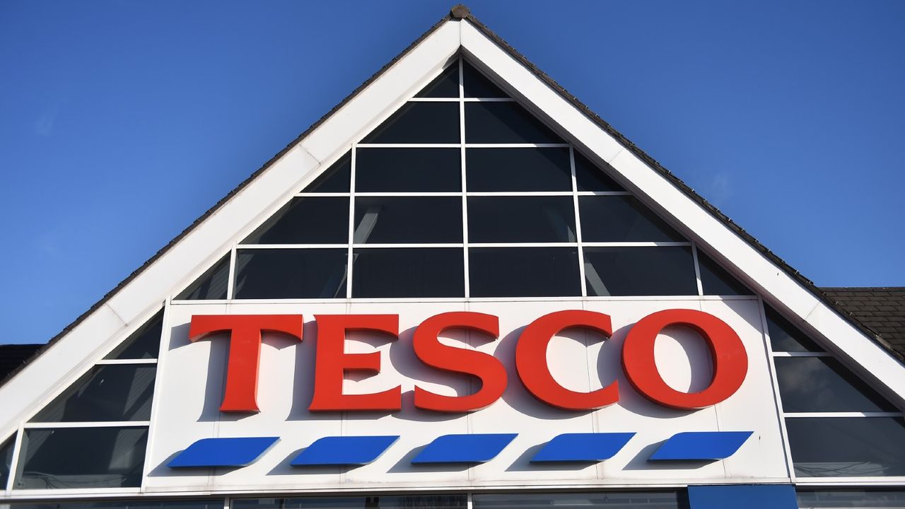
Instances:
[[[427,84],[459,50],[458,21],[447,21],[395,62],[379,79],[333,113],[301,141],[312,156],[323,161],[345,150],[355,135],[383,120],[391,109]]]

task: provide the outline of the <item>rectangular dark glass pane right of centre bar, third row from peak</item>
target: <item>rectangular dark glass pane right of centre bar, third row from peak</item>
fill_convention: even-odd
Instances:
[[[466,149],[465,166],[472,193],[572,190],[568,149]]]

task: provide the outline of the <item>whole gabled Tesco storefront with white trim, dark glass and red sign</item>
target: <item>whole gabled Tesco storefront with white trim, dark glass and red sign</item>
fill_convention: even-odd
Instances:
[[[897,353],[451,16],[0,386],[0,507],[905,507]]]

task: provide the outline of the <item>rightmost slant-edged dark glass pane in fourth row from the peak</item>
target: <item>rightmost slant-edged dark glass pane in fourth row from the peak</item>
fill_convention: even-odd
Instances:
[[[578,197],[578,207],[584,242],[686,240],[635,197]]]

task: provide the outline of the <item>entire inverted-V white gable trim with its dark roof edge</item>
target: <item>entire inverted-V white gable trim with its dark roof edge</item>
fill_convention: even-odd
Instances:
[[[865,378],[890,394],[905,394],[902,365],[888,345],[835,307],[823,292],[698,196],[656,160],[589,110],[464,5],[434,24],[288,147],[199,217],[99,303],[66,327],[0,390],[7,419],[16,422],[61,378],[83,372],[228,253],[239,235],[260,224],[342,157],[352,144],[464,55],[600,166],[612,168],[636,196],[727,266],[796,325],[833,347]],[[50,369],[43,369],[50,368]],[[27,389],[27,390],[26,390]]]

